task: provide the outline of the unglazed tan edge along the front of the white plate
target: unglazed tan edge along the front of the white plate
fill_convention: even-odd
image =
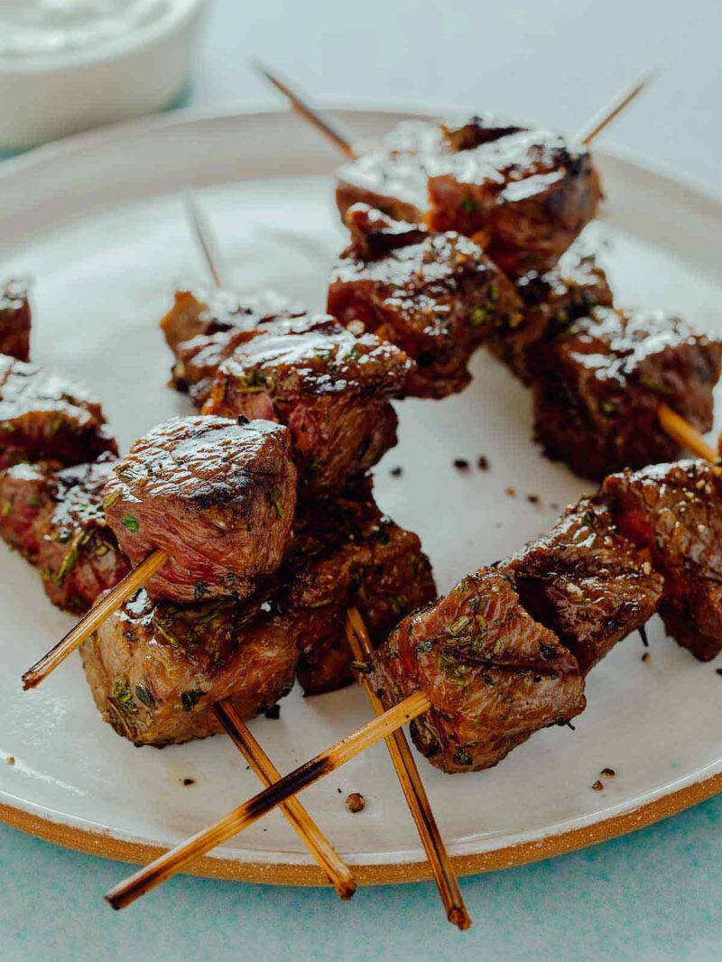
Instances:
[[[687,785],[677,792],[641,805],[631,812],[616,815],[581,828],[549,835],[533,842],[481,852],[477,855],[454,855],[453,867],[459,875],[474,875],[511,869],[517,865],[539,862],[555,855],[577,851],[580,848],[608,842],[629,832],[644,828],[662,819],[683,812],[685,808],[722,792],[722,772]],[[161,855],[166,849],[124,842],[102,832],[50,822],[31,815],[13,805],[0,805],[0,821],[20,831],[35,835],[44,842],[52,842],[64,848],[86,852],[100,858],[144,865]],[[354,865],[352,871],[360,885],[397,885],[401,882],[425,881],[431,877],[427,862],[406,864]],[[223,878],[237,882],[256,882],[266,885],[324,886],[325,876],[316,866],[266,864],[263,862],[239,862],[233,859],[201,858],[191,870],[193,875],[205,878]]]

